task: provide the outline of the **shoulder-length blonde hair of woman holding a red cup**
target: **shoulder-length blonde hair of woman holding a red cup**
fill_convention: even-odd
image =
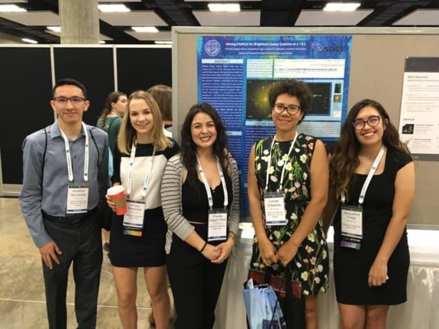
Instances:
[[[154,100],[154,97],[146,91],[134,91],[128,98],[128,115],[124,115],[120,126],[118,135],[118,148],[120,153],[131,153],[131,146],[133,145],[133,140],[137,133],[136,129],[131,125],[130,120],[129,108],[132,100],[144,100],[147,102],[149,109],[151,109],[153,116],[152,135],[154,144],[156,145],[156,150],[163,151],[167,147],[171,147],[171,140],[169,140],[163,132],[162,115],[160,114],[160,109],[158,108],[156,100]]]

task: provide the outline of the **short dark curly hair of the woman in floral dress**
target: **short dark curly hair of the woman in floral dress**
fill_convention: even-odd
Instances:
[[[277,97],[282,94],[297,97],[300,102],[300,111],[303,113],[303,117],[299,123],[302,122],[306,113],[308,113],[310,109],[311,103],[311,91],[308,87],[308,84],[295,79],[281,80],[277,82],[270,88],[270,91],[268,91],[268,102],[270,104],[270,109],[274,108]]]

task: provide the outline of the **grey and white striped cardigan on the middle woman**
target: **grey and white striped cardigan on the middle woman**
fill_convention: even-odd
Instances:
[[[232,168],[233,200],[227,216],[227,229],[237,235],[239,229],[239,172],[238,164],[232,156],[228,158],[228,161],[229,166]],[[163,214],[168,225],[165,246],[167,254],[171,250],[172,232],[184,241],[194,231],[194,226],[182,214],[182,178],[183,163],[180,154],[177,154],[170,158],[166,164],[161,187]]]

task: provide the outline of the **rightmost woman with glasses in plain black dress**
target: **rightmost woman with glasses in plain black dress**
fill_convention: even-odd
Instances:
[[[380,103],[362,100],[349,111],[330,159],[330,188],[324,217],[328,225],[335,213],[334,278],[342,326],[386,328],[389,306],[407,300],[406,223],[415,170]]]

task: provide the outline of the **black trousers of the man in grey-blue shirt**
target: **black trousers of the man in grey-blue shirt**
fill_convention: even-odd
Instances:
[[[45,218],[44,227],[62,251],[57,255],[60,264],[53,262],[53,270],[43,262],[49,328],[62,329],[67,326],[66,292],[68,269],[72,263],[78,328],[95,328],[102,266],[102,239],[97,212],[75,226]]]

